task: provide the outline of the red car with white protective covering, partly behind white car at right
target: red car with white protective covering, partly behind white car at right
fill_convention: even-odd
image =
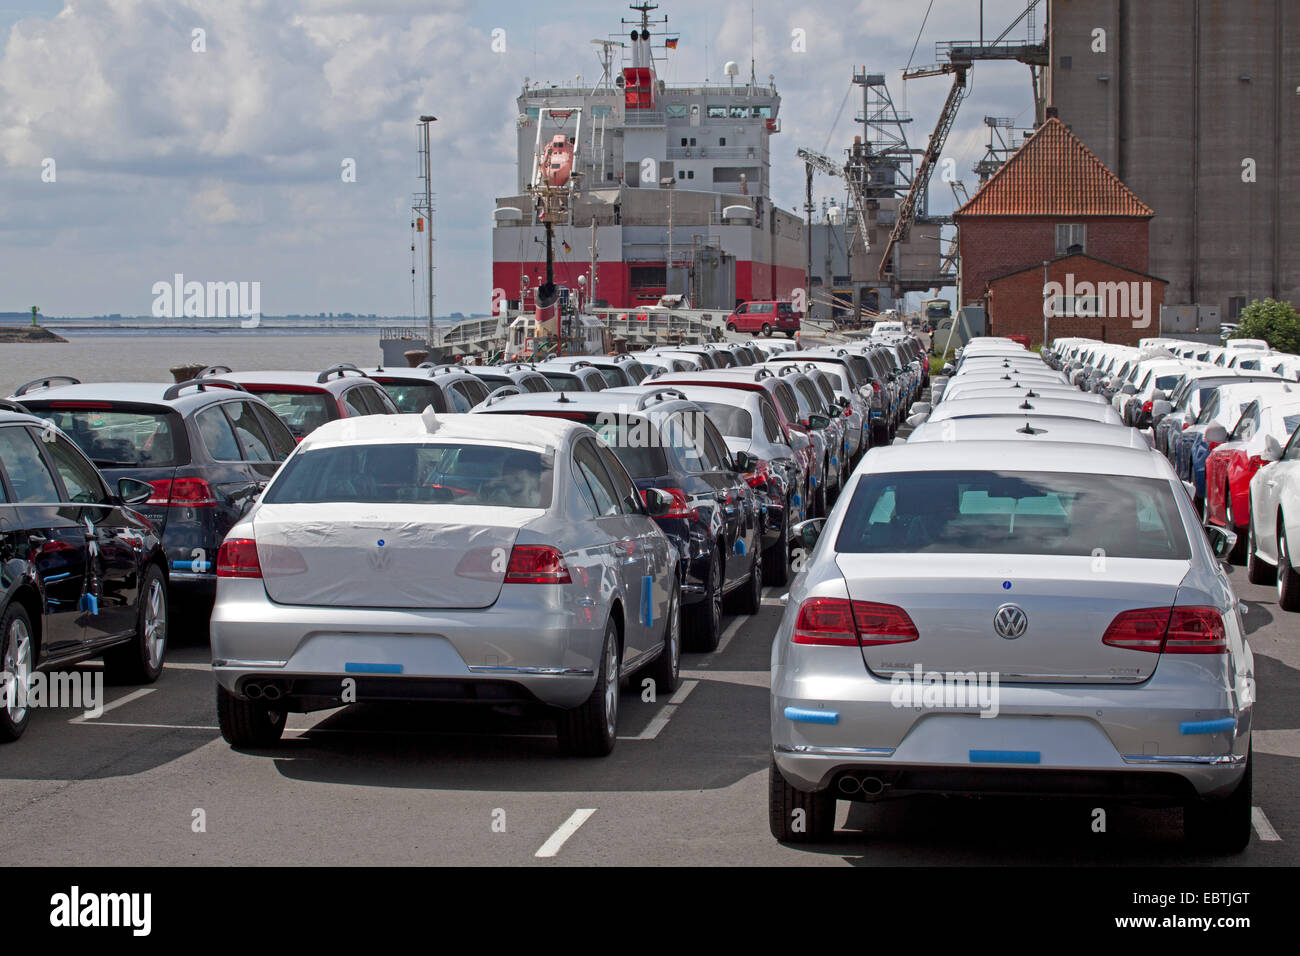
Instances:
[[[1264,440],[1271,434],[1286,447],[1300,425],[1300,398],[1270,405],[1251,402],[1242,410],[1232,434],[1205,459],[1205,523],[1236,532],[1232,563],[1245,562],[1247,523],[1251,518],[1251,479],[1264,464]]]

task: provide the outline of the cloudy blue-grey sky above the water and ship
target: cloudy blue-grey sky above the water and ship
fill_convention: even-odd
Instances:
[[[900,73],[933,62],[936,40],[976,36],[980,3],[933,0],[922,30],[927,5],[662,0],[681,38],[662,78],[720,82],[727,60],[748,68],[753,43],[758,75],[775,74],[783,95],[774,195],[797,209],[796,150],[838,156],[855,131],[855,98],[835,122],[854,65],[889,75],[916,117],[913,146],[928,137],[949,81],[905,88]],[[984,0],[985,35],[1023,5]],[[523,78],[594,85],[589,40],[621,34],[621,16],[614,0],[0,0],[0,312],[147,313],[153,284],[181,272],[259,281],[266,313],[422,313],[410,202],[425,112],[438,117],[438,312],[486,312]],[[806,52],[792,49],[796,29]],[[972,73],[945,150],[971,189],[985,114],[1031,122],[1026,66]],[[952,207],[940,186],[936,211]]]

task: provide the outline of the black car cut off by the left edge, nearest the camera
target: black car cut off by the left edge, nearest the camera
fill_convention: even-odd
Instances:
[[[104,658],[110,683],[152,683],[166,656],[166,558],[129,507],[150,485],[103,475],[47,421],[0,410],[0,741],[31,718],[36,671]]]

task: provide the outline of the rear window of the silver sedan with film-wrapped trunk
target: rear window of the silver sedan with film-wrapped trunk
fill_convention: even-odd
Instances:
[[[551,475],[540,453],[497,445],[343,445],[290,458],[264,501],[543,509]]]

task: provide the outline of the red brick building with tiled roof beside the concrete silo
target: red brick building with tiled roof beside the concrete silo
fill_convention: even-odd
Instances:
[[[1046,121],[954,213],[962,276],[958,300],[983,304],[992,334],[1043,338],[1044,284],[1058,281],[1049,334],[1109,341],[1156,334],[1165,282],[1147,273],[1149,225],[1154,213],[1049,111]],[[1044,280],[1044,263],[1050,277]],[[1079,272],[1070,272],[1078,267]],[[1098,302],[1087,285],[1105,282]],[[1123,306],[1118,284],[1138,286],[1138,302],[1153,313],[1097,315],[1098,306]],[[1000,297],[991,295],[997,284]],[[1035,286],[1036,284],[1036,286]],[[1034,302],[1026,290],[1036,287]],[[1128,299],[1131,306],[1131,298]]]

